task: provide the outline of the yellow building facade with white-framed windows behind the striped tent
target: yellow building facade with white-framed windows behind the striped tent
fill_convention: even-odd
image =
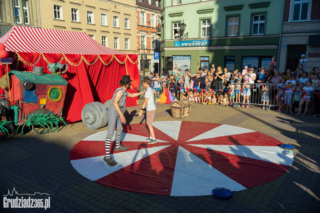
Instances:
[[[137,53],[136,3],[119,2],[41,0],[41,27],[86,32],[106,47]]]

